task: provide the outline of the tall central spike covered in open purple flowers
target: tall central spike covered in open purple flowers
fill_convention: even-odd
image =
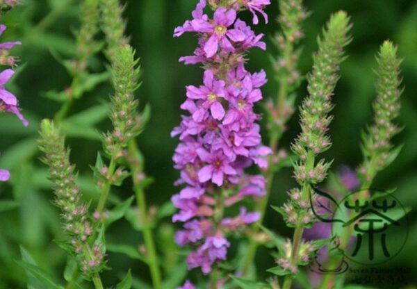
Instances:
[[[204,65],[204,85],[186,87],[186,101],[181,108],[180,126],[172,131],[181,140],[175,150],[174,167],[180,171],[177,185],[185,185],[172,196],[179,212],[173,222],[183,222],[175,240],[180,246],[193,245],[188,255],[189,269],[200,267],[203,274],[215,263],[227,259],[230,242],[227,236],[245,230],[247,224],[259,220],[259,213],[247,212],[240,205],[236,217],[224,217],[224,210],[245,197],[265,195],[265,179],[245,173],[251,165],[265,167],[270,149],[261,145],[259,115],[254,104],[262,99],[260,88],[266,83],[263,70],[251,74],[245,69],[247,49],[259,47],[263,35],[256,35],[250,26],[237,18],[237,11],[248,8],[263,13],[269,1],[224,1],[223,6],[209,2],[213,19],[204,14],[206,1],[197,3],[193,19],[174,30],[174,36],[197,33],[199,47],[194,56],[180,61]],[[189,283],[184,285],[190,286]]]

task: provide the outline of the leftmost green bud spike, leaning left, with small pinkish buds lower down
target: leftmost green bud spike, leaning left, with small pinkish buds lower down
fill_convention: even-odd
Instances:
[[[65,138],[58,128],[48,119],[40,126],[39,148],[45,156],[42,162],[49,166],[49,179],[55,192],[54,204],[61,210],[63,229],[67,235],[70,253],[79,261],[86,276],[99,272],[104,267],[104,249],[90,240],[95,233],[95,224],[91,222],[88,204],[82,200],[76,185],[75,166],[70,163],[70,151],[65,148]]]

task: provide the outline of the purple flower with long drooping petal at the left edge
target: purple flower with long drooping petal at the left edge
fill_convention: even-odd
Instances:
[[[23,125],[27,126],[28,122],[23,117],[22,113],[20,113],[15,95],[4,88],[4,85],[9,81],[13,74],[15,74],[15,72],[12,69],[6,69],[0,73],[0,113],[14,113],[22,121]]]

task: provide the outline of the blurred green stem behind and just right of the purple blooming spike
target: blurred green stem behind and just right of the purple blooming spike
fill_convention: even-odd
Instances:
[[[284,58],[286,59],[287,63],[291,61],[291,55],[293,54],[293,45],[289,42],[286,44],[286,49],[284,50]],[[279,79],[279,92],[277,97],[277,117],[282,118],[284,116],[286,110],[286,99],[288,97],[288,75],[281,77]],[[284,128],[283,128],[284,130]],[[273,154],[277,153],[279,139],[281,138],[282,133],[272,133],[270,135],[270,144],[269,147],[272,149],[272,156]],[[268,163],[272,162],[272,156],[269,158]],[[265,179],[266,179],[266,188],[265,188],[265,196],[263,196],[259,203],[256,206],[256,211],[261,213],[261,217],[259,221],[253,226],[253,231],[250,235],[249,245],[247,247],[247,254],[245,255],[245,261],[243,263],[243,276],[247,275],[250,270],[250,266],[254,262],[254,258],[256,256],[256,250],[258,249],[258,242],[255,240],[255,236],[259,231],[259,224],[263,223],[263,219],[265,217],[266,208],[268,207],[268,201],[270,199],[271,190],[272,190],[272,182],[274,181],[275,172],[272,169],[272,165],[268,165],[268,168],[265,171]]]

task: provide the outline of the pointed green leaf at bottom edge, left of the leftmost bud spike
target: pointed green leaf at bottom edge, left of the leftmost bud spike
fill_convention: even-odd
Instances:
[[[51,289],[62,289],[62,286],[58,286],[51,276],[42,268],[38,267],[36,264],[35,259],[29,254],[24,247],[20,247],[20,252],[22,254],[23,261],[16,261],[21,267],[24,268],[26,274],[28,275],[28,289],[44,289],[51,288]]]

